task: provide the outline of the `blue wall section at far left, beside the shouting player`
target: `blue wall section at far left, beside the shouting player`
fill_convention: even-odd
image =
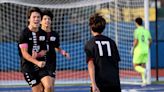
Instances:
[[[0,43],[0,70],[19,70],[19,60],[16,43]]]

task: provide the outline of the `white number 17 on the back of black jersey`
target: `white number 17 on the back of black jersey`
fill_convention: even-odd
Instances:
[[[111,48],[110,48],[110,43],[109,41],[95,41],[95,43],[98,45],[98,49],[99,49],[99,54],[100,56],[103,56],[103,49],[102,46],[106,45],[107,46],[107,53],[108,56],[111,56]]]

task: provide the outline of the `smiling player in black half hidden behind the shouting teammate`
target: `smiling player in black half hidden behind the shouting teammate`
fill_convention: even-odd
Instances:
[[[49,10],[44,10],[41,20],[41,29],[47,34],[46,45],[47,45],[47,63],[46,68],[51,77],[51,84],[54,86],[55,83],[55,71],[56,71],[56,51],[60,52],[67,59],[70,59],[69,53],[60,48],[59,35],[57,32],[51,29],[53,20],[53,14]]]

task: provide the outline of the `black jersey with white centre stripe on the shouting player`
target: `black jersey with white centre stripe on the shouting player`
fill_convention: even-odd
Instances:
[[[30,31],[29,28],[25,28],[21,35],[19,44],[28,44],[28,53],[32,55],[32,51],[39,52],[46,50],[46,34],[39,29],[37,32]],[[45,57],[38,58],[38,60],[45,61]],[[21,57],[22,72],[33,72],[38,70],[38,67]]]

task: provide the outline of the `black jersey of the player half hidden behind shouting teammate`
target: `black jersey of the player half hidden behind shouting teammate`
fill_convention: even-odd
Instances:
[[[46,67],[49,71],[56,70],[56,51],[55,48],[60,46],[59,35],[55,31],[47,32],[47,62]]]

